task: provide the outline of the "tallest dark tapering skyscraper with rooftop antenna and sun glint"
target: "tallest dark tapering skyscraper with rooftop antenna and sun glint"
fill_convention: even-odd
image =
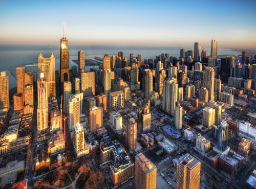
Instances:
[[[60,94],[63,93],[63,83],[70,81],[69,77],[69,45],[63,28],[63,37],[60,39]],[[55,71],[55,70],[54,70]]]

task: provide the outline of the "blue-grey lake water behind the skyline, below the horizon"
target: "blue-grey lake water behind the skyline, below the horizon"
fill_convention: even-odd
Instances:
[[[193,50],[193,48],[184,48],[187,50]],[[207,54],[210,53],[210,48],[205,48]],[[152,58],[161,55],[161,53],[168,53],[169,56],[179,57],[180,48],[139,48],[135,47],[117,47],[117,46],[71,46],[69,45],[69,66],[70,69],[75,64],[72,60],[77,59],[78,51],[86,52],[86,59],[94,59],[95,56],[103,57],[105,54],[109,56],[117,55],[119,51],[123,52],[123,57],[130,60],[130,53],[142,55],[142,60]],[[6,70],[9,75],[10,88],[16,86],[16,66],[28,65],[36,63],[39,54],[42,53],[44,57],[50,57],[51,53],[55,56],[55,68],[59,70],[59,46],[0,46],[0,71]],[[231,49],[218,49],[218,55],[235,55],[237,56],[240,52]],[[91,67],[98,68],[98,66],[86,66],[86,70],[90,70]],[[38,76],[37,66],[26,66],[26,72],[36,72]]]

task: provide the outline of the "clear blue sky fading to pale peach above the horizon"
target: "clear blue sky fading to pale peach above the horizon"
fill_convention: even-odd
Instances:
[[[256,49],[256,1],[0,1],[0,44]]]

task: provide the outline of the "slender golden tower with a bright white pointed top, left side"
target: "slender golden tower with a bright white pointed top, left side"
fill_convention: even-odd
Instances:
[[[37,80],[37,133],[43,134],[48,129],[48,84],[44,73]]]

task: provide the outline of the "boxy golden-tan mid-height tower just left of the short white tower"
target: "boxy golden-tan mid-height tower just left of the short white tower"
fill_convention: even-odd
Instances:
[[[103,108],[92,107],[89,110],[89,127],[90,131],[94,132],[103,126]]]

